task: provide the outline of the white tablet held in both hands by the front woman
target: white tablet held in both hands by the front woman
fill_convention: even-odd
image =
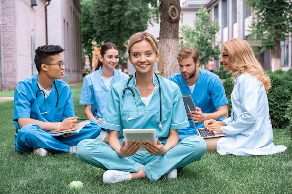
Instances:
[[[140,141],[141,144],[137,153],[148,152],[142,144],[145,140],[151,141],[157,145],[155,129],[123,129],[123,135],[126,146],[133,140]]]

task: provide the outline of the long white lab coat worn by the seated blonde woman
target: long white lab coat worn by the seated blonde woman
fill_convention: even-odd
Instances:
[[[221,155],[267,155],[283,152],[275,146],[269,116],[268,98],[261,82],[250,74],[239,74],[231,93],[231,117],[225,119],[222,137],[217,142]]]

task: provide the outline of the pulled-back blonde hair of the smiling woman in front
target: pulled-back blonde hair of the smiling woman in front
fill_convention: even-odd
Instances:
[[[129,56],[131,55],[131,48],[132,46],[137,43],[137,42],[141,42],[142,40],[146,40],[148,41],[151,46],[154,49],[154,52],[156,52],[156,54],[158,54],[158,43],[155,39],[155,37],[148,33],[148,32],[137,32],[135,34],[133,34],[130,39],[129,39],[129,43],[128,43],[128,48],[127,48],[127,52],[129,54]]]

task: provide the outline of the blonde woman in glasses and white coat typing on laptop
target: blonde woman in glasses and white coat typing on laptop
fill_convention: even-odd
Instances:
[[[257,61],[249,44],[240,38],[223,43],[220,60],[225,71],[232,71],[231,117],[223,122],[205,121],[207,130],[229,136],[207,139],[208,151],[221,155],[266,155],[287,147],[273,144],[267,93],[271,81]]]

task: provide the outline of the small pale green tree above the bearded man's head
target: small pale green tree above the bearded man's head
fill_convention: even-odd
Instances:
[[[215,60],[220,54],[219,44],[216,41],[216,33],[220,27],[218,21],[212,21],[206,8],[198,11],[198,18],[194,20],[193,27],[181,27],[184,43],[181,47],[192,46],[200,52],[200,63],[206,64],[210,57]]]

